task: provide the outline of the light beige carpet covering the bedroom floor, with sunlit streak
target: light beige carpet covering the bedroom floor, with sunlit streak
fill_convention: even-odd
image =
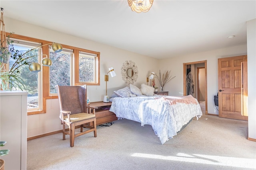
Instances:
[[[28,141],[28,170],[247,170],[256,169],[248,122],[203,115],[164,145],[150,125],[127,119],[97,126],[97,137],[62,133]]]

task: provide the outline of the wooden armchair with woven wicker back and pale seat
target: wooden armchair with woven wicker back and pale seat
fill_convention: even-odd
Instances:
[[[87,91],[84,86],[56,85],[60,102],[60,121],[63,125],[63,140],[70,135],[70,147],[74,147],[74,138],[89,132],[97,137],[95,107],[87,106]],[[92,113],[91,113],[92,111]],[[65,125],[68,125],[66,130]],[[80,127],[80,133],[75,134],[75,128]],[[89,128],[83,131],[83,128]]]

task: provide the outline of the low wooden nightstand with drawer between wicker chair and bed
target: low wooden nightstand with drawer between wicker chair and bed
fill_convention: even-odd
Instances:
[[[102,125],[117,120],[116,114],[109,111],[112,102],[91,102],[90,107],[96,107],[96,125]]]

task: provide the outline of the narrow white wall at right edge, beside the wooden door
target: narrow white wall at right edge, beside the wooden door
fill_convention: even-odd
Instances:
[[[248,138],[256,139],[256,19],[247,22]]]

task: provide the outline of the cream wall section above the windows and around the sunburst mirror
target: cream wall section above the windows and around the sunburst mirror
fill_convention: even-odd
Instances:
[[[91,102],[102,101],[106,93],[106,83],[104,75],[108,72],[108,68],[113,67],[117,76],[109,78],[108,81],[108,95],[110,96],[114,90],[124,87],[127,84],[122,80],[121,67],[126,60],[132,60],[138,66],[138,79],[134,84],[140,86],[146,83],[146,76],[151,72],[152,68],[158,67],[158,60],[152,57],[139,55],[130,51],[125,51],[108,45],[88,41],[72,35],[52,31],[36,25],[23,23],[18,20],[5,18],[6,32],[14,32],[18,35],[33,37],[46,41],[58,42],[64,45],[80,47],[92,51],[100,52],[100,86],[88,86],[88,96]],[[146,63],[146,64],[145,64]]]

